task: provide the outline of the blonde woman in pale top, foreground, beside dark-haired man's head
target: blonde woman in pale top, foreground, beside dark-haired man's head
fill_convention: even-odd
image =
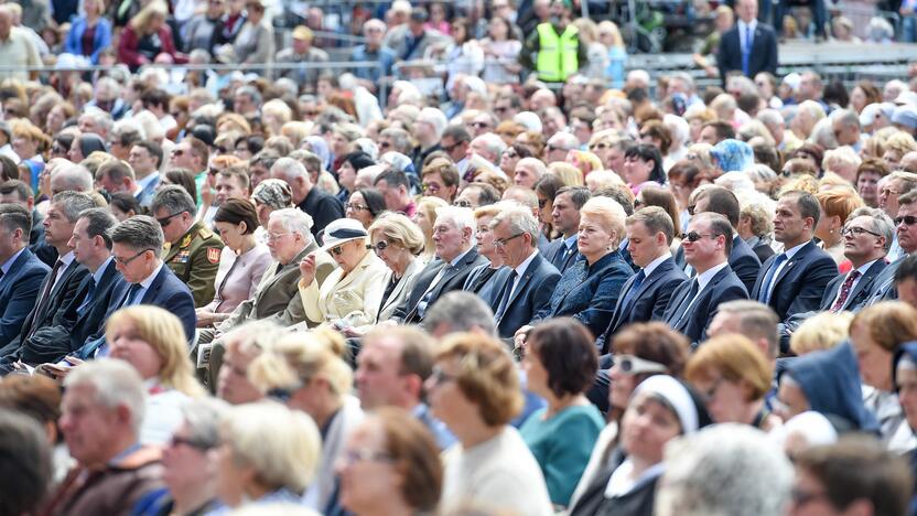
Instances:
[[[359,400],[349,394],[354,375],[344,352],[343,338],[291,333],[256,358],[248,373],[268,397],[308,413],[324,429],[319,473],[303,497],[306,506],[321,512],[336,505],[334,464],[346,436],[364,417]]]

